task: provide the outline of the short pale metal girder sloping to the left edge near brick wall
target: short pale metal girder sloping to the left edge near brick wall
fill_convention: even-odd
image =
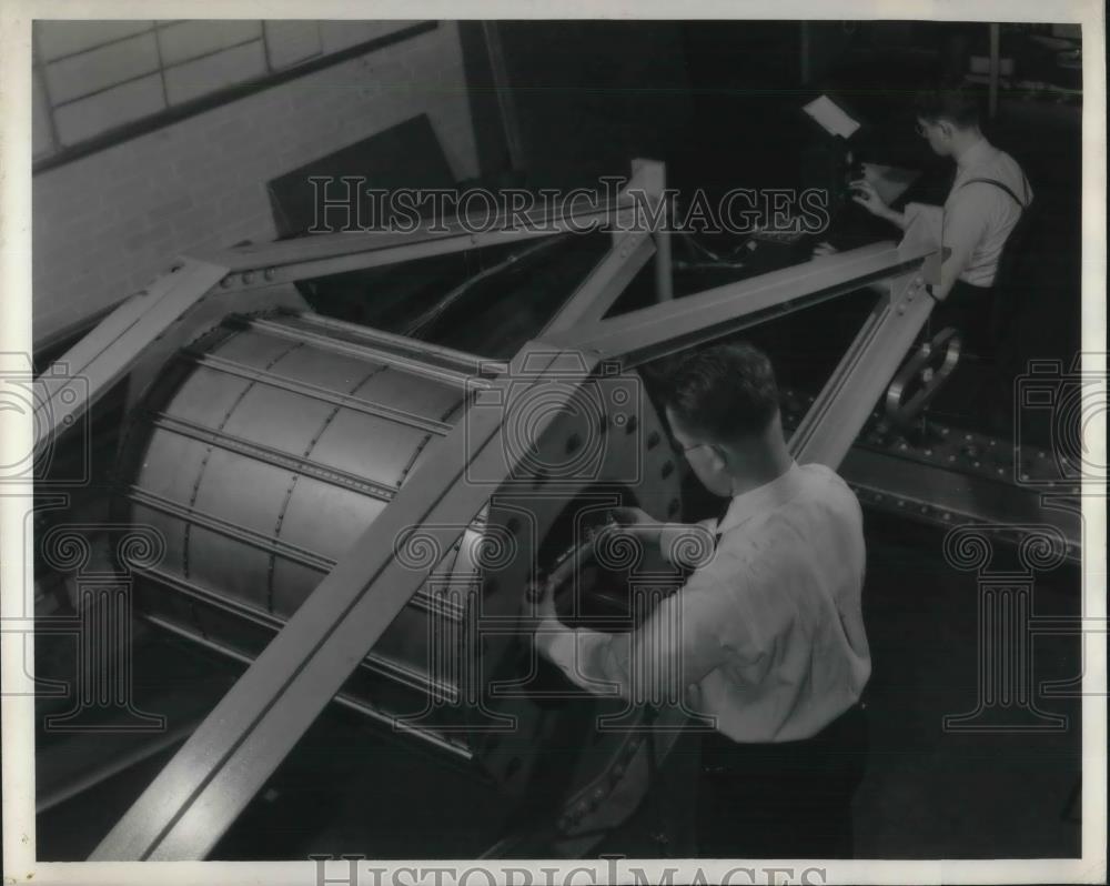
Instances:
[[[73,425],[226,272],[219,264],[183,259],[39,375],[34,381],[36,451]]]

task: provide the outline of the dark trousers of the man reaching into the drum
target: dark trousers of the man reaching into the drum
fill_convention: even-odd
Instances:
[[[866,756],[859,705],[800,742],[740,744],[706,735],[698,856],[850,858],[851,796]]]

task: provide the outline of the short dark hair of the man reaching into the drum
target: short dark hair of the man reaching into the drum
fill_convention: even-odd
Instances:
[[[664,400],[683,424],[724,442],[767,430],[778,412],[778,385],[763,351],[717,344],[682,358]]]

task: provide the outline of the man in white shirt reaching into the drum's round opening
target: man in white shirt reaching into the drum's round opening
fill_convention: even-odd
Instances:
[[[703,857],[850,855],[871,669],[859,503],[828,467],[795,463],[756,349],[688,354],[666,403],[694,473],[730,504],[694,526],[620,509],[620,531],[672,562],[708,534],[710,555],[630,634],[571,631],[544,600],[536,645],[592,692],[684,697],[715,727],[703,744]]]

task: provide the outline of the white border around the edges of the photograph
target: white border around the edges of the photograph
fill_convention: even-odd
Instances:
[[[831,13],[836,13],[834,17]],[[1077,22],[1082,26],[1082,351],[1088,355],[1087,372],[1104,372],[1094,355],[1104,354],[1107,296],[1106,229],[1106,21],[1098,0],[694,0],[675,4],[660,0],[599,2],[576,0],[542,3],[535,0],[423,0],[422,2],[339,2],[337,0],[0,0],[0,352],[31,353],[31,20],[36,19],[831,19],[839,20],[946,20],[946,21],[1030,21]],[[167,256],[168,259],[172,256]],[[1103,379],[1103,391],[1106,380]],[[1106,414],[1094,417],[1087,444],[1091,457],[1106,459]],[[12,464],[21,453],[31,451],[30,416],[14,412],[0,414],[0,464]],[[1104,620],[1106,585],[1106,501],[1104,490],[1087,490],[1094,495],[1083,499],[1083,591],[1084,614]],[[30,505],[30,489],[6,486],[0,494],[0,618],[33,615],[31,540],[23,537],[24,515]],[[266,884],[315,886],[317,865],[304,862],[180,862],[180,863],[39,863],[36,860],[33,688],[24,674],[23,656],[30,645],[2,643],[2,761],[3,761],[3,875],[4,886],[33,883],[52,884]],[[1104,883],[1107,877],[1107,706],[1106,634],[1086,634],[1087,660],[1083,673],[1082,728],[1082,857],[1061,859],[997,860],[784,860],[750,862],[759,869],[793,866],[823,867],[826,883]],[[367,863],[367,865],[371,863]],[[373,863],[374,867],[404,872],[424,867],[442,868],[452,863],[417,859]],[[474,862],[460,860],[460,870],[475,868]],[[689,883],[700,869],[702,882],[714,882],[741,863],[644,860],[635,865],[655,882],[664,872],[677,867],[674,883]],[[558,867],[554,883],[605,883],[613,874],[613,863],[483,862],[492,879],[471,876],[473,884],[487,882],[522,883],[521,870],[532,869],[535,883],[546,883],[542,868]],[[632,882],[632,862],[617,863],[624,882]],[[332,883],[347,875],[347,863],[330,863],[326,876]],[[508,872],[517,872],[515,874]],[[578,872],[578,873],[574,873]],[[589,872],[593,872],[591,874]],[[571,875],[569,878],[567,875]],[[404,879],[408,876],[408,879]],[[397,883],[415,883],[413,875],[401,874]],[[549,876],[549,875],[546,875]],[[373,883],[372,878],[365,880]],[[394,878],[384,876],[382,884]],[[427,880],[432,882],[432,880]],[[444,883],[451,880],[444,878]],[[734,875],[734,883],[748,879]],[[780,880],[781,882],[781,880]]]

